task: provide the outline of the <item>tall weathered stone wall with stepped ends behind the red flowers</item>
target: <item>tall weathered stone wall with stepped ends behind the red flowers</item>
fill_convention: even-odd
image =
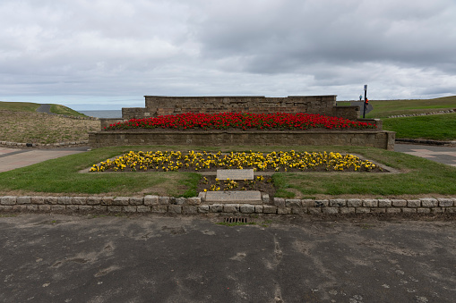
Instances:
[[[228,96],[228,97],[162,97],[144,96],[145,108],[122,108],[125,120],[182,113],[254,114],[307,113],[324,114],[357,120],[359,106],[337,106],[336,96]]]

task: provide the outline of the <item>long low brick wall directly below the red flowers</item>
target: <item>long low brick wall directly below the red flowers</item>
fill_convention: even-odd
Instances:
[[[361,146],[394,150],[395,132],[360,131],[98,131],[89,133],[90,147],[125,145],[197,145],[221,147],[230,145],[261,146]]]

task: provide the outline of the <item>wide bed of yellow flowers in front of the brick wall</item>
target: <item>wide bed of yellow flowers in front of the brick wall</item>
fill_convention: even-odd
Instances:
[[[133,152],[130,151],[114,160],[95,164],[90,172],[136,172],[136,171],[214,171],[217,169],[254,169],[254,171],[297,172],[306,170],[325,171],[382,171],[368,160],[353,155],[339,153],[262,152],[227,154],[195,152],[183,154],[180,151]]]

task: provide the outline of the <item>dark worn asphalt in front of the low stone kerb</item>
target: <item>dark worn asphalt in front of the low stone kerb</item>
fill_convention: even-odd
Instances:
[[[0,301],[454,302],[455,221],[313,218],[3,216]]]

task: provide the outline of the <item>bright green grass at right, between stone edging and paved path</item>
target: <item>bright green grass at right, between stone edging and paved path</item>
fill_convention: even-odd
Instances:
[[[456,139],[456,113],[383,119],[383,130],[396,131],[396,138]]]

